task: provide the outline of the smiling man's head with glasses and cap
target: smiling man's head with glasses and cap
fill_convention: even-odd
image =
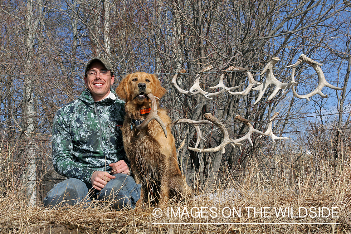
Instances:
[[[84,77],[84,82],[91,92],[94,101],[101,101],[110,93],[114,76],[111,76],[111,72],[107,71],[101,62],[95,61],[91,63]]]

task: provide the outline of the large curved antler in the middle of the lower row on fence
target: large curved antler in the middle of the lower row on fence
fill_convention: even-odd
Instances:
[[[221,144],[217,147],[214,148],[208,148],[208,149],[199,149],[199,148],[192,148],[192,147],[188,147],[188,149],[192,150],[192,151],[196,151],[196,152],[203,152],[203,153],[211,153],[211,152],[217,152],[217,151],[221,151],[222,154],[225,153],[225,146],[227,144],[230,144],[231,146],[235,147],[237,146],[241,146],[242,144],[240,143],[236,143],[233,141],[233,139],[231,139],[229,137],[229,133],[227,131],[227,129],[225,128],[224,124],[221,123],[216,117],[214,117],[212,114],[210,113],[205,113],[204,117],[208,120],[211,121],[211,123],[214,123],[217,127],[219,127],[219,129],[223,132],[223,140],[221,142]]]

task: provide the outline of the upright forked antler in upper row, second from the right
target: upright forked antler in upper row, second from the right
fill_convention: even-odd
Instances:
[[[268,101],[270,101],[279,92],[280,89],[283,89],[283,92],[285,92],[286,89],[290,88],[291,86],[297,85],[297,83],[295,81],[290,81],[288,83],[282,83],[274,77],[273,66],[279,60],[280,59],[278,57],[273,57],[272,60],[269,61],[267,63],[267,65],[263,68],[263,71],[261,72],[260,75],[263,75],[264,73],[266,73],[266,80],[261,85],[253,88],[253,90],[259,91],[258,97],[253,104],[256,104],[257,102],[259,102],[261,100],[266,88],[269,87],[269,85],[271,85],[271,84],[275,85],[276,88],[274,89],[272,94],[268,97],[268,99],[267,99]]]

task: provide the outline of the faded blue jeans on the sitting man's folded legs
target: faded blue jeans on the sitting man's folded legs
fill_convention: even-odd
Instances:
[[[46,194],[43,200],[45,207],[73,206],[79,202],[91,202],[93,198],[112,202],[115,209],[122,207],[135,208],[140,199],[140,185],[135,183],[130,175],[114,174],[115,179],[108,181],[106,186],[98,191],[91,184],[75,178],[68,178],[57,183]]]

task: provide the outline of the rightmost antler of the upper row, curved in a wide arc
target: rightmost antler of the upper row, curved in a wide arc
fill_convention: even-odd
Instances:
[[[324,93],[322,93],[322,88],[323,87],[328,87],[328,88],[331,88],[331,89],[335,89],[335,90],[343,90],[344,87],[342,88],[339,88],[339,87],[336,87],[336,86],[333,86],[331,85],[330,83],[328,83],[326,80],[325,80],[325,76],[323,74],[323,71],[322,71],[322,68],[320,68],[321,66],[323,66],[322,64],[308,58],[306,55],[302,54],[300,55],[299,59],[303,62],[306,62],[308,63],[309,65],[311,65],[313,67],[313,69],[316,71],[317,73],[317,76],[318,76],[318,86],[316,89],[314,89],[311,93],[308,93],[306,95],[299,95],[296,93],[295,89],[293,88],[292,89],[292,92],[293,94],[297,97],[297,98],[300,98],[300,99],[306,99],[307,101],[310,101],[310,97],[316,95],[316,94],[319,94],[322,98],[327,98],[328,96]],[[297,62],[296,62],[297,63]],[[293,65],[295,65],[296,63],[294,63]],[[292,66],[292,65],[291,65]],[[296,65],[297,66],[297,65]],[[293,72],[295,72],[295,67],[293,68]],[[293,75],[293,74],[292,74]]]

